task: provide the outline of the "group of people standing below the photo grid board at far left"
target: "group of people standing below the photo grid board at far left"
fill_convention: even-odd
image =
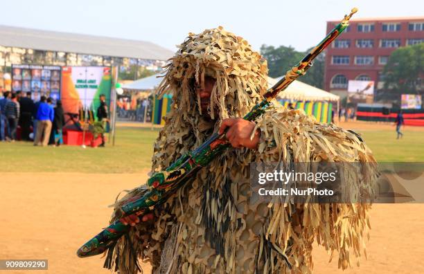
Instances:
[[[17,140],[18,125],[21,140],[34,142],[34,145],[61,145],[64,111],[62,102],[42,96],[37,102],[31,99],[31,93],[3,93],[0,99],[0,140]],[[32,129],[32,133],[31,133]]]

